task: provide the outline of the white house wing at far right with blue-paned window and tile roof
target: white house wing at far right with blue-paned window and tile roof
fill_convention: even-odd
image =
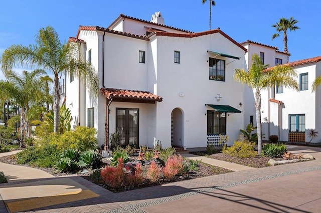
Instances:
[[[289,62],[297,71],[300,91],[275,86],[262,92],[262,132],[278,135],[280,141],[308,142],[308,129],[321,132],[321,87],[311,92],[321,74],[321,56]],[[321,134],[311,142],[319,142]]]

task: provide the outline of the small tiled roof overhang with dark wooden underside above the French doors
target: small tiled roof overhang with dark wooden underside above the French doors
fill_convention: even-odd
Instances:
[[[139,103],[155,103],[161,102],[163,97],[155,95],[148,91],[116,89],[116,88],[100,88],[100,92],[109,100],[121,102],[139,102]]]

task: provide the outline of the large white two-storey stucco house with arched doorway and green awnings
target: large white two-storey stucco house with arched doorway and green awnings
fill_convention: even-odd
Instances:
[[[65,104],[74,125],[95,127],[99,146],[123,129],[123,144],[148,145],[153,138],[185,149],[233,144],[244,125],[244,89],[236,68],[246,68],[247,49],[214,29],[191,32],[121,14],[107,28],[80,26],[70,37],[80,57],[98,71],[100,93],[88,94],[76,76],[66,76]]]

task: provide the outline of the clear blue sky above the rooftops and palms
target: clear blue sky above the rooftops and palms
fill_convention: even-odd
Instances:
[[[202,0],[0,0],[0,54],[13,44],[34,44],[39,29],[48,25],[67,41],[79,25],[108,27],[121,13],[150,20],[156,11],[166,25],[209,29],[209,2]],[[288,51],[295,61],[321,55],[320,12],[320,0],[216,0],[211,28],[220,27],[237,42],[249,39],[283,51],[283,34],[271,40],[276,32],[271,25],[293,16],[300,29],[288,32]]]

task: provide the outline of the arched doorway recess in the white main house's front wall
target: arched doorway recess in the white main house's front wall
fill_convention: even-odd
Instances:
[[[172,111],[172,145],[184,147],[183,111],[175,108]]]

